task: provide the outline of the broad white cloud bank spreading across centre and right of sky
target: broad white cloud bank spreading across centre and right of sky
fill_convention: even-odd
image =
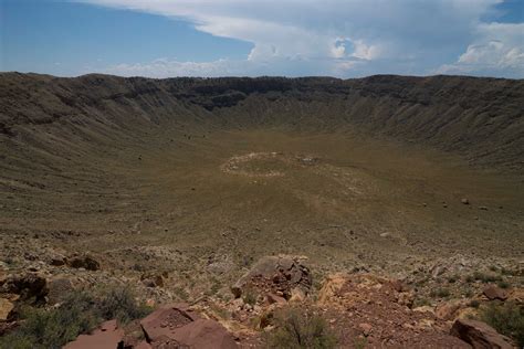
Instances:
[[[524,75],[516,31],[522,33],[522,24],[480,20],[502,0],[80,1],[184,19],[199,31],[253,44],[245,61],[128,62],[108,67],[115,73],[345,77],[481,68],[497,74],[506,64],[515,76]]]

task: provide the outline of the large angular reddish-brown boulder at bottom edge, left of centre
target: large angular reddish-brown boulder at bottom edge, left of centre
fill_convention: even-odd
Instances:
[[[144,318],[140,326],[154,348],[237,348],[223,326],[200,318],[185,304],[165,306]]]

